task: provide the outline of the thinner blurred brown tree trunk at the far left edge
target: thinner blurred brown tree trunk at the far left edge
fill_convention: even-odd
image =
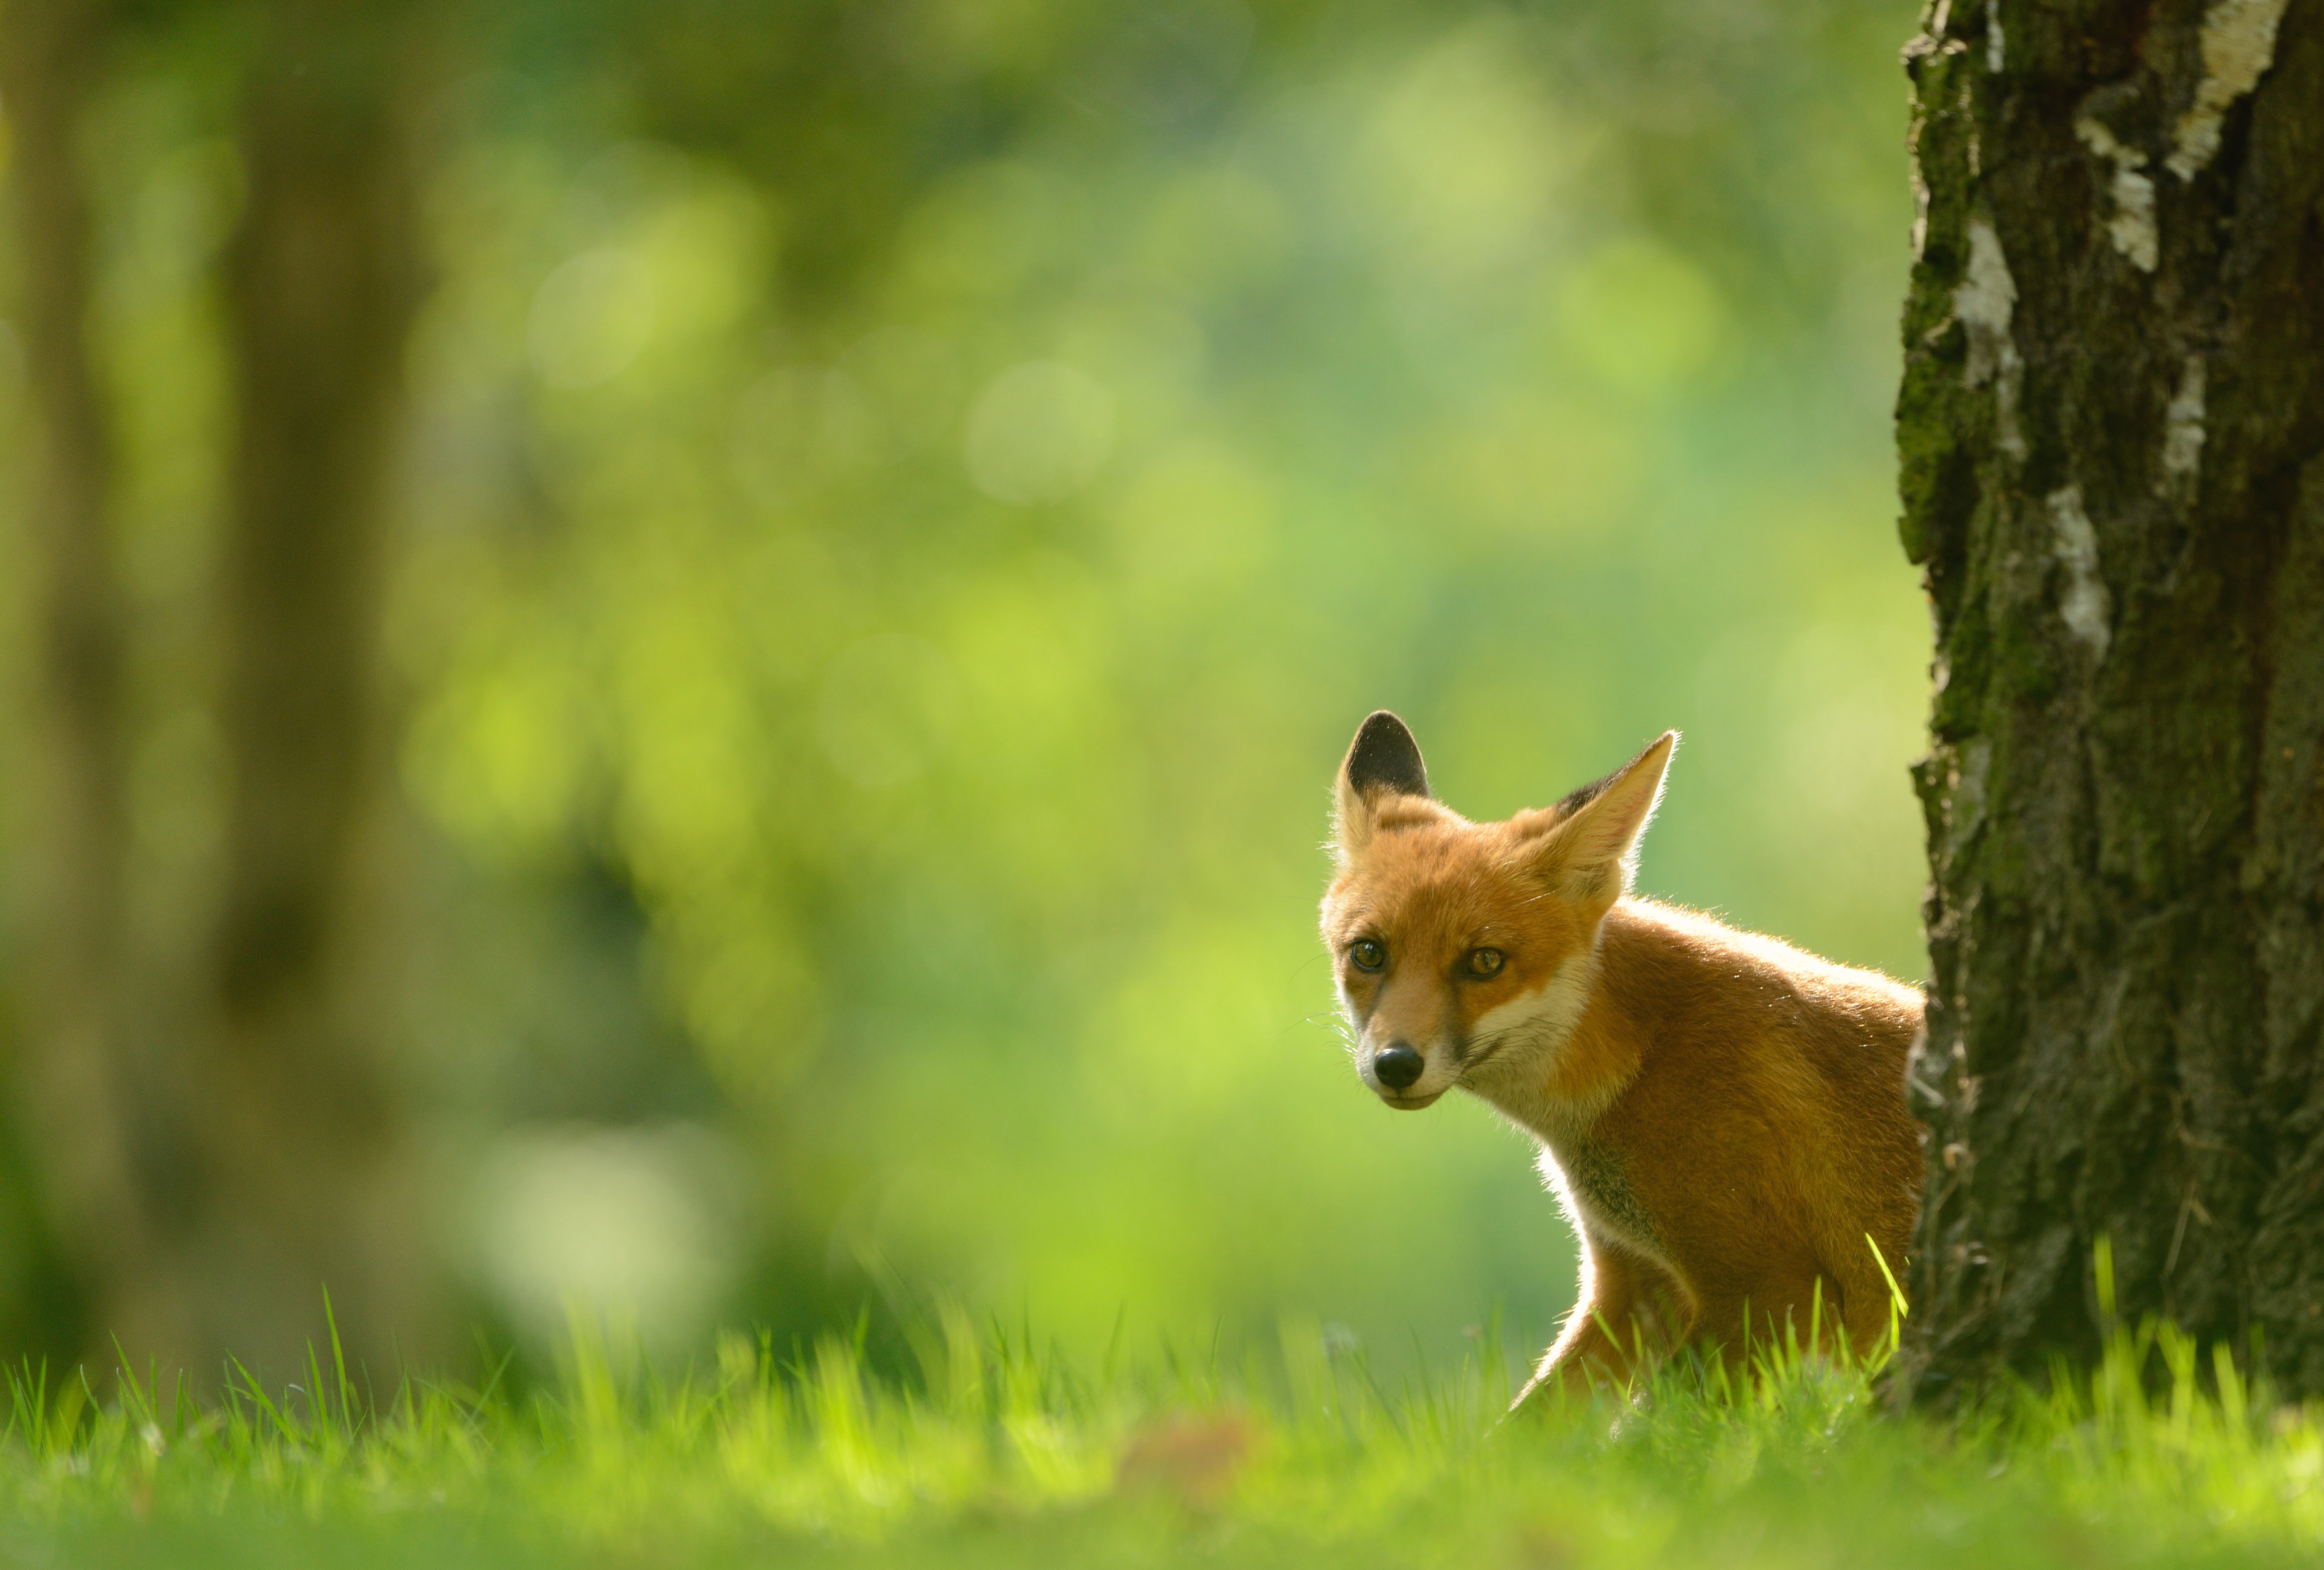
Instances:
[[[177,1349],[181,1301],[167,1280],[132,1110],[114,432],[91,348],[93,223],[79,160],[112,33],[114,9],[95,0],[14,0],[0,23],[37,409],[30,451],[46,718],[33,871],[46,920],[12,1101],[79,1312],[132,1345]]]

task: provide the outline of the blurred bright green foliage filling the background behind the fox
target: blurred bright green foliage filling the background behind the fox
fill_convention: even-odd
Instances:
[[[1908,23],[460,14],[390,653],[397,1040],[476,1303],[1545,1335],[1520,1140],[1385,1112],[1329,1029],[1329,776],[1392,706],[1504,815],[1676,725],[1645,890],[1920,975]],[[158,950],[218,855],[225,56],[156,21],[91,132]]]

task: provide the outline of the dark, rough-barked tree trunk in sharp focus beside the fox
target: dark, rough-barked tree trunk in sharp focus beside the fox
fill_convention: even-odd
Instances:
[[[1903,541],[1936,604],[1922,1398],[2119,1312],[2324,1391],[2324,0],[1945,5]]]

